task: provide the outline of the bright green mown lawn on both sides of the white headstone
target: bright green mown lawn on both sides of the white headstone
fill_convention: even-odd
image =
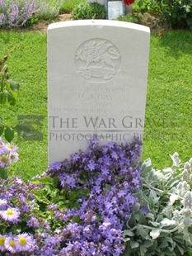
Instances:
[[[21,83],[16,107],[1,107],[0,116],[12,126],[18,116],[42,116],[43,140],[13,140],[19,146],[16,173],[27,179],[47,168],[46,35],[0,31],[0,56],[9,55],[11,78]],[[152,33],[148,74],[143,159],[156,168],[171,164],[169,154],[192,157],[192,33]]]

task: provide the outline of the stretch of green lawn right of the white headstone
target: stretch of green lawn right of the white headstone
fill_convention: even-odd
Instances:
[[[192,156],[192,33],[152,35],[143,158],[157,167]],[[149,120],[149,121],[148,121]],[[151,121],[151,122],[150,122]],[[152,121],[155,121],[155,123]]]

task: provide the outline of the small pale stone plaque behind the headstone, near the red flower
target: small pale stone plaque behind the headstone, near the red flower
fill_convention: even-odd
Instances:
[[[107,17],[108,20],[115,20],[119,16],[124,15],[124,4],[122,1],[107,2]]]

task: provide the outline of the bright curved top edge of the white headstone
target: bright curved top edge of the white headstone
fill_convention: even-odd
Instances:
[[[128,28],[132,30],[138,30],[150,33],[150,28],[148,26],[143,26],[131,22],[125,21],[109,21],[109,20],[78,20],[78,21],[61,21],[49,24],[48,31],[55,29],[62,29],[68,26],[114,26],[121,28]]]

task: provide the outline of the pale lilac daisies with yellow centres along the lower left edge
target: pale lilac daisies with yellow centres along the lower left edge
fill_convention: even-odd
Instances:
[[[0,138],[0,254],[22,254],[35,249],[34,230],[44,225],[35,218],[35,184],[24,183],[9,173],[18,160],[17,147]],[[7,175],[9,174],[9,175]],[[37,225],[38,224],[38,225]]]

